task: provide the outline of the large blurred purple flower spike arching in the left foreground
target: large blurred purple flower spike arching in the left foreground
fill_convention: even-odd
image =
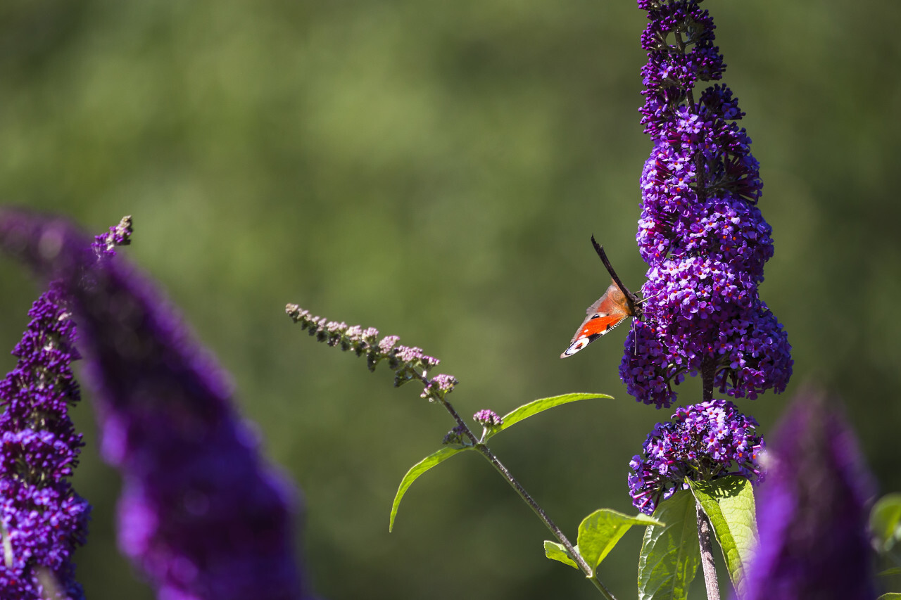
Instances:
[[[296,490],[259,456],[227,379],[143,277],[68,223],[0,211],[0,247],[59,278],[123,474],[119,541],[159,598],[306,598]]]

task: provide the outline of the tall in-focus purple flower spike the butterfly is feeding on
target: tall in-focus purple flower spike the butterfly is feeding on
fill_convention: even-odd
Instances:
[[[653,150],[642,170],[637,241],[648,263],[644,320],[624,347],[620,376],[646,404],[668,407],[673,386],[706,372],[721,393],[754,398],[781,392],[791,375],[787,336],[758,286],[773,255],[760,214],[758,162],[736,121],[722,77],[714,23],[694,0],[639,0],[644,131]]]

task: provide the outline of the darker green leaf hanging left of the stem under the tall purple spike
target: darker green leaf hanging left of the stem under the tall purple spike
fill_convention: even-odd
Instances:
[[[677,492],[654,511],[663,527],[644,530],[638,558],[639,600],[684,600],[701,564],[695,496]]]

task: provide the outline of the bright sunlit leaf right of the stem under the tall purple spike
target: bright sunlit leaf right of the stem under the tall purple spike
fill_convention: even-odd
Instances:
[[[754,492],[746,477],[730,475],[714,481],[691,481],[688,486],[714,528],[716,541],[736,592],[744,593],[745,568],[757,547]]]

